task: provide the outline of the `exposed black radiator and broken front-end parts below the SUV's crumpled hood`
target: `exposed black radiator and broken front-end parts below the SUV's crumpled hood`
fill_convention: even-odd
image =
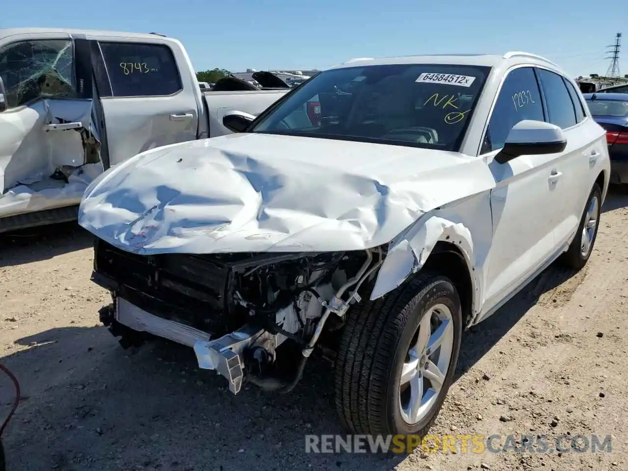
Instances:
[[[332,253],[160,254],[95,244],[92,279],[114,303],[100,320],[123,346],[157,335],[193,347],[229,380],[290,391],[324,333],[340,327],[380,249]],[[327,322],[330,315],[333,322]],[[329,335],[333,338],[333,335]],[[319,340],[321,340],[319,342]]]

